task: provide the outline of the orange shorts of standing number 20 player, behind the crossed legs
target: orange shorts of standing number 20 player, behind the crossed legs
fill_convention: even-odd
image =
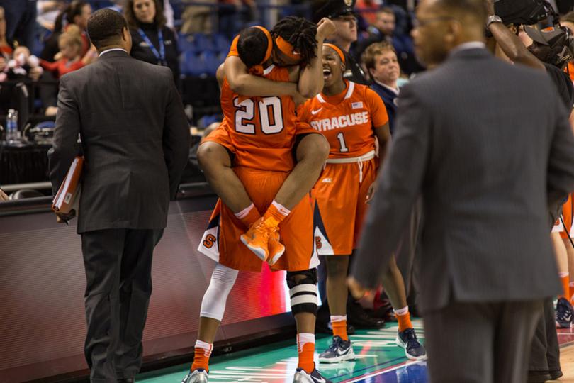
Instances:
[[[286,172],[257,170],[251,167],[233,167],[233,170],[261,216],[289,175]],[[241,242],[240,236],[245,231],[247,228],[243,223],[219,200],[198,250],[215,262],[232,269],[261,271],[261,260]],[[301,271],[319,265],[313,242],[313,209],[308,196],[279,223],[279,235],[280,242],[285,245],[285,253],[271,266],[271,270]]]

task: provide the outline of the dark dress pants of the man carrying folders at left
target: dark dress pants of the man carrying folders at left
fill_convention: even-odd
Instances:
[[[156,232],[119,228],[81,233],[87,279],[84,355],[93,383],[116,383],[140,371]]]

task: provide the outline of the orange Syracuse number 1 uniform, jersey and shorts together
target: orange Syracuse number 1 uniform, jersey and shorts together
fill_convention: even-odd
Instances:
[[[368,188],[378,169],[373,127],[388,121],[381,97],[364,85],[344,82],[342,94],[318,94],[298,109],[301,121],[325,135],[331,147],[325,171],[311,191],[319,255],[349,255],[356,248]]]

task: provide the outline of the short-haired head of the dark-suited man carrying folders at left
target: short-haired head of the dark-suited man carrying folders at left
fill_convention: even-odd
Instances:
[[[113,9],[99,9],[88,19],[88,35],[96,48],[116,42],[121,38],[123,28],[128,28],[128,23]]]

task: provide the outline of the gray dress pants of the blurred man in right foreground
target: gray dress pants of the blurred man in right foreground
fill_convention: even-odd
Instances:
[[[451,301],[423,315],[431,383],[524,383],[542,299]]]

